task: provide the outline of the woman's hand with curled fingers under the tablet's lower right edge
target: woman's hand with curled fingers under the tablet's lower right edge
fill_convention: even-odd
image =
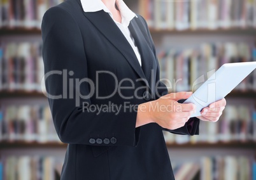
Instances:
[[[201,111],[201,116],[197,118],[204,121],[217,122],[222,115],[225,105],[225,98],[220,101],[216,101],[215,103],[211,103],[211,105],[209,105],[208,107],[203,108],[203,110]]]

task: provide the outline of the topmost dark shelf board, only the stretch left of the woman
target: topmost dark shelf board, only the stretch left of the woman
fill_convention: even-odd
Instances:
[[[41,30],[38,28],[27,29],[24,27],[15,27],[15,28],[1,28],[0,35],[32,35],[38,34],[41,35]]]

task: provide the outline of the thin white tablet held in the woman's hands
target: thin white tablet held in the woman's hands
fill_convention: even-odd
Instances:
[[[206,80],[183,103],[194,103],[196,113],[191,117],[201,115],[201,110],[215,101],[222,100],[234,87],[245,79],[256,68],[256,61],[245,63],[226,63]],[[197,79],[198,80],[198,79]],[[199,80],[200,81],[200,80]],[[196,86],[194,83],[193,87]]]

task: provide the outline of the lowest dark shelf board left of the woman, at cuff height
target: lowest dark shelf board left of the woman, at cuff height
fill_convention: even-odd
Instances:
[[[13,148],[66,148],[67,144],[64,143],[35,143],[35,142],[1,142],[0,149],[13,149]]]

